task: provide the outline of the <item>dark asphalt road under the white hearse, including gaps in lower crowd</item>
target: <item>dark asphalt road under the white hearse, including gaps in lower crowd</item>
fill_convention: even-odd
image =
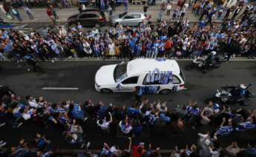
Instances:
[[[41,63],[42,68],[46,73],[33,73],[27,71],[26,67],[16,67],[7,62],[0,62],[0,84],[4,84],[13,89],[18,95],[27,96],[45,96],[47,101],[87,101],[91,98],[94,103],[103,101],[106,105],[112,102],[114,105],[120,104],[129,107],[134,102],[133,93],[111,93],[103,94],[96,93],[94,89],[94,76],[96,70],[105,64],[116,64],[120,61],[56,61],[54,63]],[[180,67],[184,67],[190,61],[178,61]],[[183,90],[174,94],[162,95],[147,95],[143,98],[148,98],[149,101],[167,101],[167,107],[172,108],[177,104],[188,104],[188,101],[198,101],[199,106],[206,106],[204,100],[213,96],[217,88],[225,84],[242,84],[254,83],[251,91],[256,91],[256,61],[229,61],[223,63],[217,70],[209,71],[206,74],[200,73],[197,70],[183,70],[188,90]],[[79,90],[42,90],[42,87],[78,87]],[[234,105],[234,107],[238,107]],[[255,100],[252,100],[249,107],[246,109],[255,109]],[[114,136],[102,136],[102,133],[96,124],[88,120],[82,124],[85,133],[88,135],[88,140],[91,141],[93,149],[102,148],[104,142],[109,144],[118,144],[120,147],[128,147],[128,139],[117,133]],[[135,138],[134,142],[144,141],[152,142],[155,146],[161,149],[173,149],[175,145],[185,147],[186,144],[195,144],[197,141],[196,133],[206,133],[206,130],[214,130],[213,126],[206,125],[198,127],[197,130],[191,130],[190,127],[185,127],[185,133],[181,136],[154,137],[150,136],[146,130],[142,135]],[[33,122],[24,124],[21,128],[13,129],[5,126],[0,130],[0,138],[8,142],[7,146],[15,145],[20,138],[32,140],[36,132],[47,135],[54,145],[61,148],[71,148],[61,136],[60,130],[50,124],[47,130],[42,130],[38,124]],[[232,141],[237,141],[240,146],[246,146],[246,143],[256,143],[256,133],[249,131],[246,133],[236,133],[235,135],[221,137],[220,142],[223,146],[230,144]]]

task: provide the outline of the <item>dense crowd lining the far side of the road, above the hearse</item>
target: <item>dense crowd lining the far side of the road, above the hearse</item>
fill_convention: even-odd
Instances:
[[[69,26],[67,30],[59,27],[54,32],[42,27],[41,32],[30,30],[24,34],[17,30],[1,29],[0,57],[13,59],[16,64],[22,59],[54,58],[74,59],[96,58],[194,58],[207,56],[211,51],[219,55],[256,55],[255,20],[250,19],[252,9],[246,8],[243,19],[223,21],[222,24],[189,24],[189,19],[167,24],[157,23],[157,27],[142,22],[140,27],[122,27],[121,24],[110,30],[93,27],[85,32],[81,24]],[[253,11],[255,12],[255,10]]]

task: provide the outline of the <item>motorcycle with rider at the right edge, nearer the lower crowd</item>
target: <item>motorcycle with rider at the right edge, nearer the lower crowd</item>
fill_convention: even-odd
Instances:
[[[234,86],[221,87],[222,90],[217,90],[213,98],[206,99],[206,103],[209,101],[219,102],[220,104],[240,104],[241,106],[249,106],[250,98],[255,98],[249,91],[249,87],[253,84],[237,84]]]

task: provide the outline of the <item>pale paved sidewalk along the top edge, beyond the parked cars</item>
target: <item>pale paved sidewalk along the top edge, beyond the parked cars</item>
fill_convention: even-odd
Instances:
[[[172,10],[171,10],[170,16],[166,16],[166,10],[165,10],[165,12],[163,13],[163,17],[162,17],[163,21],[164,20],[166,20],[167,22],[171,21],[174,6],[176,6],[176,4],[177,4],[176,1],[174,1],[172,4],[173,7],[171,8]],[[92,8],[93,8],[92,6],[87,7],[87,9],[92,9]],[[22,8],[18,9],[19,14],[22,17],[22,21],[18,21],[18,19],[10,20],[7,18],[7,16],[3,15],[3,13],[1,13],[1,17],[7,23],[16,23],[16,24],[51,22],[50,18],[47,16],[45,10],[46,10],[45,8],[31,8],[30,11],[35,18],[34,20],[30,20]],[[114,8],[113,14],[116,15],[116,14],[122,13],[124,10],[125,10],[124,4],[119,4],[119,6],[116,6]],[[128,10],[141,10],[142,11],[143,5],[142,4],[138,4],[138,5],[129,4]],[[59,16],[59,20],[60,20],[59,22],[66,23],[69,16],[79,13],[79,11],[77,10],[77,7],[62,8],[62,9],[56,8],[56,13]],[[147,14],[151,15],[151,21],[157,21],[157,18],[159,17],[159,13],[160,13],[160,4],[157,4],[155,7],[150,6],[148,8]],[[105,16],[108,19],[108,12],[105,12]],[[191,8],[189,8],[187,10],[186,15],[184,16],[184,19],[186,19],[186,18],[188,18],[189,21],[191,21],[191,22],[198,22],[198,19],[199,19],[198,16],[195,17],[194,13],[191,13]],[[212,21],[214,21],[214,19]],[[221,21],[217,21],[217,22],[221,22]]]

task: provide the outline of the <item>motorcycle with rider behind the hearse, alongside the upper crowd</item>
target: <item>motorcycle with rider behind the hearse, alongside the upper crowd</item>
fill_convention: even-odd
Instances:
[[[194,68],[197,68],[197,70],[202,71],[202,73],[206,73],[207,70],[212,70],[214,68],[220,67],[221,62],[223,61],[226,61],[226,57],[225,59],[220,59],[220,56],[217,56],[215,51],[211,51],[206,59],[194,59],[191,64],[185,67],[185,69],[192,70]]]

